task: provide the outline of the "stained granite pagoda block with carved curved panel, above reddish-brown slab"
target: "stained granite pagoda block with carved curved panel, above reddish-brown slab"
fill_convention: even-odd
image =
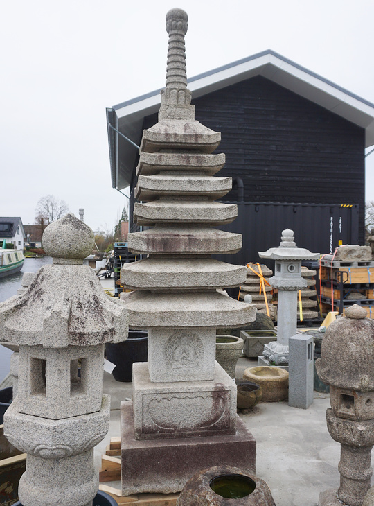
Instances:
[[[219,364],[213,381],[151,383],[147,363],[132,374],[136,439],[235,433],[236,386]]]

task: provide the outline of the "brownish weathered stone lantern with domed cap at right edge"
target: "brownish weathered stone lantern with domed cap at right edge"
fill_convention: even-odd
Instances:
[[[319,506],[362,506],[370,488],[374,444],[374,322],[350,306],[326,331],[317,373],[330,385],[328,431],[341,444],[340,487],[319,496]]]

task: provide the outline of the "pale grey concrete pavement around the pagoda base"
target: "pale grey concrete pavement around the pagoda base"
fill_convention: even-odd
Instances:
[[[105,290],[114,280],[103,279]],[[110,289],[109,288],[109,289]],[[235,375],[242,378],[256,361],[242,357]],[[120,435],[120,403],[132,396],[132,383],[118,383],[104,373],[104,392],[112,396],[109,433],[95,448],[96,464],[110,438]],[[339,487],[340,445],[330,437],[326,426],[328,394],[314,392],[308,410],[291,408],[287,402],[260,403],[253,412],[240,418],[257,441],[256,475],[267,482],[277,506],[317,506],[319,493]],[[121,488],[121,482],[112,482]]]

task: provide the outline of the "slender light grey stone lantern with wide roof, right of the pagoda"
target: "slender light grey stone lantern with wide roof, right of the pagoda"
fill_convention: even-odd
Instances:
[[[287,365],[288,340],[296,334],[297,327],[297,292],[307,286],[307,281],[301,277],[301,261],[317,260],[319,253],[296,247],[293,230],[285,229],[279,247],[258,254],[261,259],[275,261],[274,276],[269,278],[269,283],[278,290],[277,340],[265,344],[264,356],[268,362],[262,365],[271,362]]]

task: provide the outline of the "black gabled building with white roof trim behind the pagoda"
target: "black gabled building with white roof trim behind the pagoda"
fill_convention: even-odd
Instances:
[[[257,261],[257,251],[276,246],[286,227],[311,251],[364,244],[373,104],[273,51],[188,83],[196,119],[222,133],[217,152],[226,165],[218,175],[233,178],[222,200],[238,204],[238,219],[222,228],[241,232],[243,249],[227,261]],[[139,145],[143,129],[157,123],[159,104],[157,90],[107,110],[114,188],[134,189],[139,155],[127,139]]]

